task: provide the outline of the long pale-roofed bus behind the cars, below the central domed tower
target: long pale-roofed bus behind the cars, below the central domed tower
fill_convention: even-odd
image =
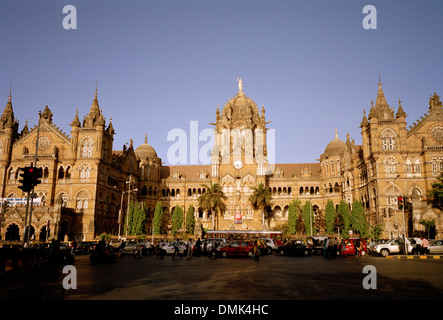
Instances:
[[[277,246],[283,244],[283,231],[257,231],[257,230],[210,230],[206,233],[208,239],[229,239],[229,240],[252,240],[252,239],[272,239]]]

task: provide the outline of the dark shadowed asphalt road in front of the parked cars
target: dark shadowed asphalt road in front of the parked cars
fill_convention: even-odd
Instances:
[[[363,273],[365,266],[371,272]],[[134,259],[91,265],[77,257],[76,289],[61,269],[0,274],[1,299],[39,300],[443,300],[443,259],[262,256]],[[375,272],[373,272],[375,271]],[[374,276],[376,275],[376,278]],[[365,289],[365,278],[376,288]],[[366,282],[367,278],[366,278]]]

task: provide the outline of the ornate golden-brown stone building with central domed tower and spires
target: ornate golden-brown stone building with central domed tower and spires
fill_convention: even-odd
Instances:
[[[442,215],[427,202],[431,184],[443,170],[443,109],[436,94],[425,116],[407,129],[401,102],[395,112],[380,83],[375,105],[368,117],[363,115],[362,145],[349,135],[346,141],[339,139],[336,131],[315,163],[271,165],[267,124],[264,106],[259,110],[245,95],[239,79],[237,94],[221,111],[216,110],[211,164],[164,166],[147,137],[137,148],[131,140],[122,151],[113,150],[112,120],[106,125],[97,93],[82,122],[78,111],[75,114],[70,136],[53,124],[46,107],[40,114],[37,158],[44,174],[35,188],[39,202],[34,206],[31,232],[42,240],[48,228],[50,238],[62,240],[92,239],[102,232],[123,234],[119,212],[124,221],[128,190],[134,188],[131,200],[143,201],[148,209],[147,232],[157,201],[168,217],[175,206],[186,213],[193,205],[198,225],[210,229],[212,217],[198,207],[198,196],[212,181],[221,185],[228,198],[219,217],[220,230],[281,228],[287,223],[289,203],[299,199],[302,205],[312,202],[315,225],[323,232],[327,201],[338,206],[343,199],[349,204],[361,200],[369,221],[383,224],[385,237],[395,237],[403,232],[403,211],[396,209],[397,196],[402,195],[408,199],[404,212],[409,234],[423,230],[420,220],[434,219],[436,236],[443,235]],[[18,131],[9,97],[0,118],[3,198],[25,197],[18,189],[18,168],[35,161],[37,129],[30,130],[26,124]],[[261,182],[272,194],[264,222],[262,213],[249,202],[251,188]],[[23,237],[24,215],[23,205],[5,213],[1,239]]]

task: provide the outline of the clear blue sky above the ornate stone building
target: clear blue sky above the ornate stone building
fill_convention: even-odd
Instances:
[[[367,4],[377,9],[377,30],[362,27]],[[66,5],[77,9],[77,30],[62,26]],[[276,161],[316,162],[336,128],[361,144],[379,70],[408,127],[434,92],[443,95],[442,13],[440,0],[2,0],[0,107],[12,82],[19,130],[48,105],[70,134],[98,81],[114,150],[131,138],[137,147],[147,133],[168,163],[168,132],[189,132],[190,121],[211,128],[239,74],[272,121]]]

